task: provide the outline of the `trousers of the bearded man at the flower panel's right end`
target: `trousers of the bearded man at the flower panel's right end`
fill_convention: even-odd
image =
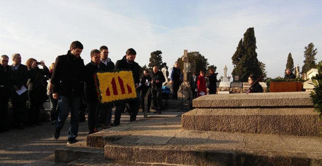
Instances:
[[[130,111],[130,122],[136,121],[137,120],[137,115],[141,106],[141,96],[140,92],[136,89],[137,97],[134,100],[131,101],[121,101],[116,105],[115,108],[115,116],[114,116],[114,125],[120,125],[120,120],[121,120],[121,114],[122,111],[125,109],[125,103],[129,104]]]

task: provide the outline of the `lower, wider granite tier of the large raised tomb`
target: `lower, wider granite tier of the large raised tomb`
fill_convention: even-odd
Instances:
[[[185,130],[322,136],[314,108],[196,108],[182,115]]]

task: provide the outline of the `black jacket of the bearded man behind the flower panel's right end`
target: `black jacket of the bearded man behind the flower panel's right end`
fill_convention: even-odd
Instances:
[[[123,59],[118,60],[115,63],[115,71],[132,71],[134,83],[140,83],[140,75],[139,75],[139,63],[133,62],[132,64],[129,64],[126,61],[126,56],[123,56]]]

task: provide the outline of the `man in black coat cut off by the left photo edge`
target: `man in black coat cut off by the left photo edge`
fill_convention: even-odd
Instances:
[[[0,58],[0,133],[9,131],[7,122],[8,103],[12,88],[12,73],[8,66],[9,57],[1,55]]]

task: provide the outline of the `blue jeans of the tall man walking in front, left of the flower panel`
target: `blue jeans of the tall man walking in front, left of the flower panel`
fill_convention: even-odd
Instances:
[[[72,94],[71,96],[61,96],[58,98],[59,115],[56,121],[55,128],[61,130],[66,118],[69,114],[69,108],[71,110],[70,124],[68,130],[68,140],[75,140],[78,135],[78,125],[80,121],[80,96]]]

